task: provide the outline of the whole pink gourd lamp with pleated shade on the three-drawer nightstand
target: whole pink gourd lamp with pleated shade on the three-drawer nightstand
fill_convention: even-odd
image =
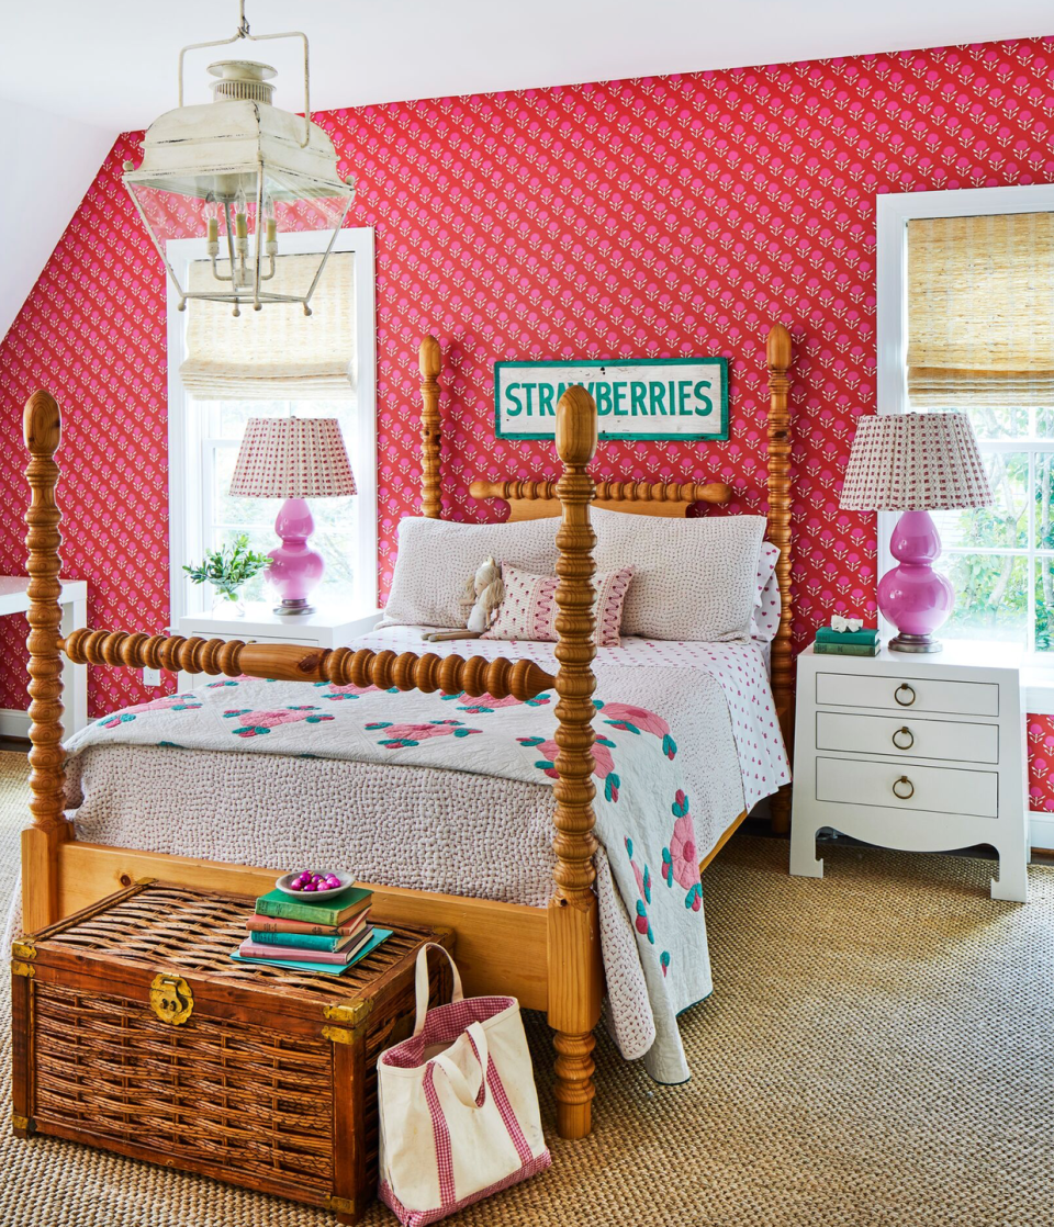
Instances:
[[[941,539],[930,512],[989,507],[991,488],[966,413],[861,417],[845,470],[841,507],[902,512],[890,552],[898,566],[879,580],[879,609],[899,631],[891,652],[940,652],[934,632],[955,605],[955,589],[934,569]]]

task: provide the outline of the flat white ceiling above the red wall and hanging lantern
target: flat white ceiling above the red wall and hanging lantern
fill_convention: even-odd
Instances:
[[[0,97],[145,128],[175,106],[179,48],[232,34],[237,13],[237,0],[0,0]],[[1054,33],[1050,0],[247,0],[247,17],[258,34],[307,32],[317,108]],[[189,101],[207,101],[205,66],[223,54],[188,58]],[[280,69],[288,109],[296,56],[249,53]]]

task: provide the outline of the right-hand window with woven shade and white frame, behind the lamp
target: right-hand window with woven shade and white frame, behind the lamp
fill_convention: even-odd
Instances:
[[[944,638],[1054,665],[1054,189],[879,198],[879,411],[960,410],[995,502],[939,512]],[[879,518],[882,571],[896,513]]]

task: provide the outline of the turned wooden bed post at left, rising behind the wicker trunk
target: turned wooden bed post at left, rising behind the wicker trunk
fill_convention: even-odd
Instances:
[[[55,502],[59,466],[55,452],[63,437],[59,406],[45,391],[34,391],[22,417],[29,464],[26,547],[29,556],[29,810],[33,825],[22,832],[22,926],[26,933],[59,919],[59,844],[69,838],[65,818],[65,751],[63,750],[63,660],[59,631],[59,521]]]

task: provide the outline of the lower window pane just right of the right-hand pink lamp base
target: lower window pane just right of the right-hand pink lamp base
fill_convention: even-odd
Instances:
[[[956,598],[952,615],[937,636],[1027,644],[1027,558],[945,553],[940,569],[951,579]]]

